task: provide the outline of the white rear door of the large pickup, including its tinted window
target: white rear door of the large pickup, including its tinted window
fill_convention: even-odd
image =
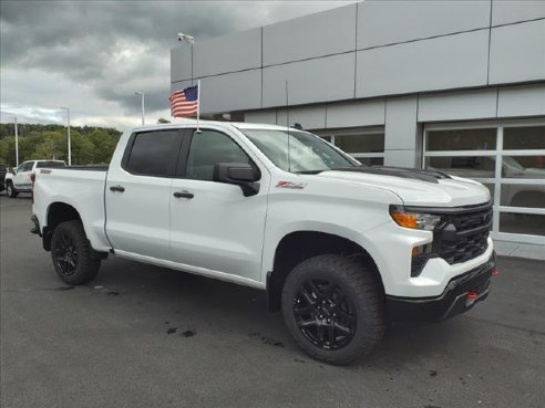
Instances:
[[[135,133],[121,167],[111,167],[106,233],[116,251],[168,259],[171,184],[182,139],[179,129]]]

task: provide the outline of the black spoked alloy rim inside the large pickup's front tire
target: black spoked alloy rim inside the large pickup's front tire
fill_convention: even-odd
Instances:
[[[352,341],[356,313],[342,289],[330,281],[306,281],[294,297],[297,326],[309,342],[323,349],[340,349]]]

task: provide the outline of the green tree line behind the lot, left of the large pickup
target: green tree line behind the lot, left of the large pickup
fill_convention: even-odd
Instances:
[[[61,125],[18,126],[19,163],[30,159],[56,159],[68,163],[66,127]],[[121,132],[94,126],[71,126],[72,165],[104,165],[112,158]],[[0,163],[16,166],[13,124],[0,124]]]

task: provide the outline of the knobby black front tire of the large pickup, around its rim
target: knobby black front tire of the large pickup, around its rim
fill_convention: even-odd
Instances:
[[[356,312],[352,316],[352,322],[356,322],[353,336],[341,348],[326,349],[323,345],[320,347],[308,338],[308,332],[306,336],[304,328],[299,327],[295,303],[296,299],[300,299],[301,285],[309,281],[333,283],[342,290],[341,293],[353,305]],[[331,304],[338,307],[339,305],[335,303]],[[377,281],[371,269],[358,258],[327,254],[302,261],[286,278],[281,304],[284,320],[297,344],[311,357],[325,363],[346,365],[371,353],[385,332],[382,285]],[[330,344],[335,345],[339,337],[336,334],[332,337],[335,341]]]

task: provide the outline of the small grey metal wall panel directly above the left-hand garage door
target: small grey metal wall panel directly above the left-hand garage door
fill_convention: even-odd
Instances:
[[[384,124],[384,100],[331,104],[327,107],[327,128]]]

